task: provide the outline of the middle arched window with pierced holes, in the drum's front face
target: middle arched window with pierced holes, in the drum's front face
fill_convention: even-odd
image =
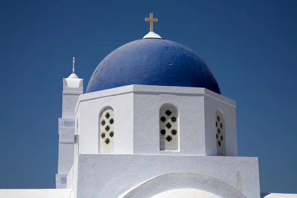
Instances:
[[[178,109],[163,104],[159,112],[160,150],[179,150]]]

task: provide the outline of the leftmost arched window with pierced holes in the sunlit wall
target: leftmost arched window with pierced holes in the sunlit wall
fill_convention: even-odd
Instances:
[[[104,107],[99,114],[99,153],[113,152],[114,113],[110,106]]]

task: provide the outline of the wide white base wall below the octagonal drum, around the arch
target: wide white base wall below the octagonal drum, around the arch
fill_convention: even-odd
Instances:
[[[206,174],[247,198],[260,198],[257,157],[143,154],[79,154],[77,198],[116,198],[150,178],[173,172]]]

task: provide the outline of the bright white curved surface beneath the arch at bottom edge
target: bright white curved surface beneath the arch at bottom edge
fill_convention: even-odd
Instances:
[[[221,198],[212,193],[197,189],[175,189],[165,191],[151,198]]]

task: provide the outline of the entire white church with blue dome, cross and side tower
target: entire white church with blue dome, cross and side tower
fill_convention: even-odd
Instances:
[[[63,79],[56,189],[0,198],[297,198],[261,193],[257,157],[238,156],[236,101],[192,49],[150,31],[97,66],[86,93]]]

